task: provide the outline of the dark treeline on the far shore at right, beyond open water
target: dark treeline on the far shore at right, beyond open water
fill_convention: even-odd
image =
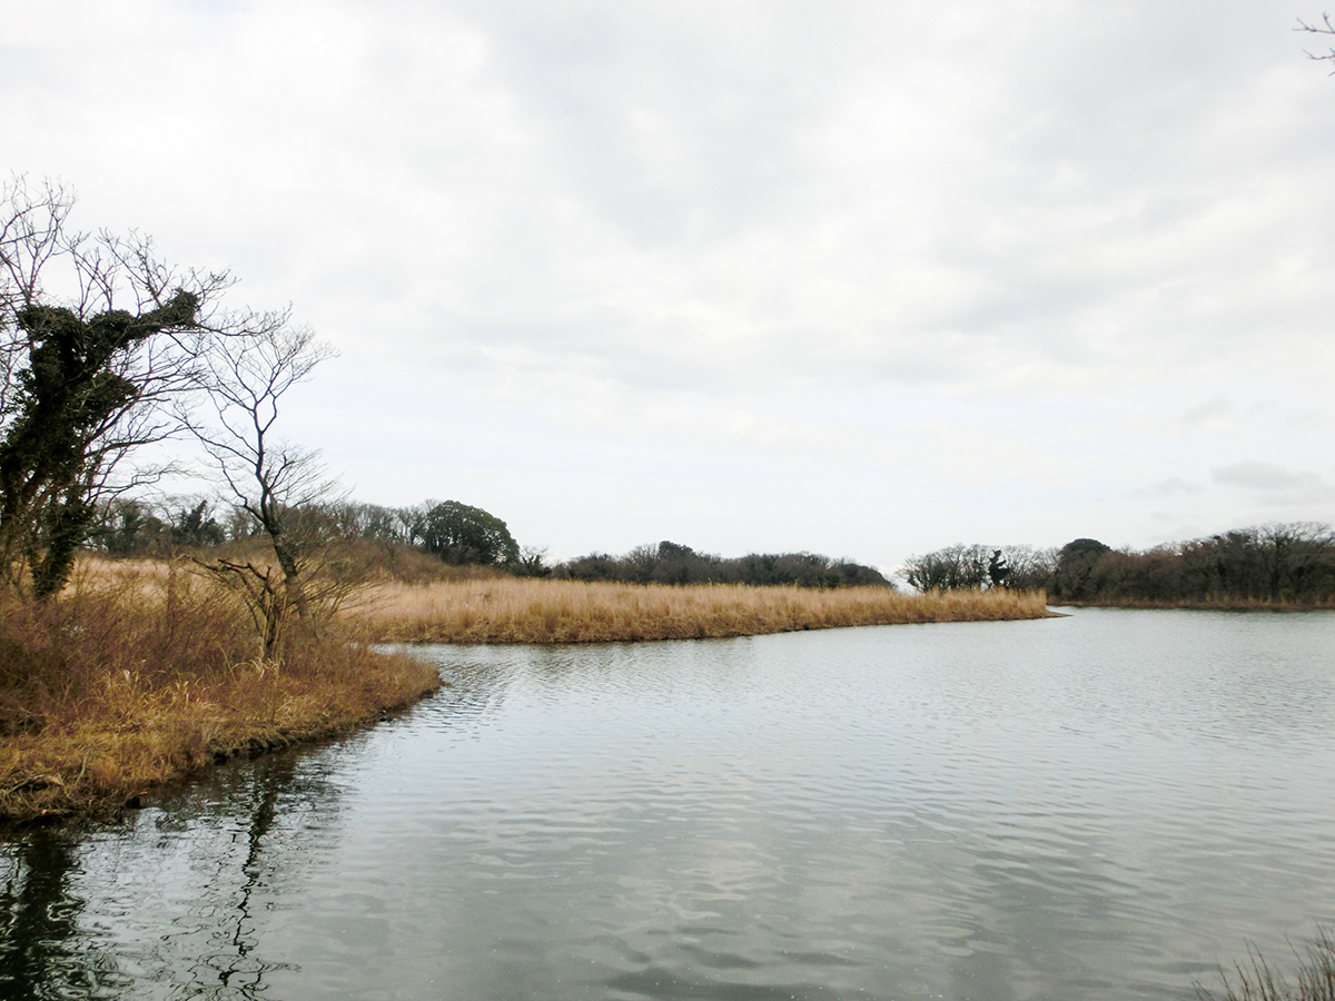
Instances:
[[[1264,525],[1151,550],[1076,539],[1061,549],[951,546],[904,565],[920,591],[1043,587],[1076,603],[1335,603],[1335,533]]]

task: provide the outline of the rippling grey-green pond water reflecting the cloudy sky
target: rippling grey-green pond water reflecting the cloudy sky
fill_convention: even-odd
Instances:
[[[578,649],[0,842],[0,997],[1188,998],[1335,922],[1335,615]]]

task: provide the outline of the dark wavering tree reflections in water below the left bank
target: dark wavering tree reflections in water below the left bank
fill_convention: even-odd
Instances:
[[[311,814],[338,798],[303,762],[220,769],[166,810],[0,842],[0,997],[262,997],[287,965],[259,954],[258,897],[300,882]]]

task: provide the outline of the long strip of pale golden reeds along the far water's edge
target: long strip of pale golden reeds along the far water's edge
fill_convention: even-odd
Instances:
[[[372,586],[356,611],[386,641],[578,643],[697,639],[800,629],[905,622],[1032,619],[1047,615],[1041,593],[901,594],[888,587],[814,591],[742,585],[451,581]]]

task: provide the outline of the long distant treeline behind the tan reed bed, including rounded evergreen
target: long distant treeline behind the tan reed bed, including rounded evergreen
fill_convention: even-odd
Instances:
[[[745,583],[798,587],[889,587],[874,567],[814,553],[753,553],[725,559],[676,542],[639,546],[619,557],[591,553],[549,565],[546,551],[519,546],[503,521],[458,500],[410,507],[356,502],[326,503],[294,513],[292,530],[312,539],[364,539],[407,546],[454,566],[486,566],[515,577],[622,583]],[[254,519],[208,499],[117,499],[103,511],[95,545],[111,555],[163,555],[244,542]]]

